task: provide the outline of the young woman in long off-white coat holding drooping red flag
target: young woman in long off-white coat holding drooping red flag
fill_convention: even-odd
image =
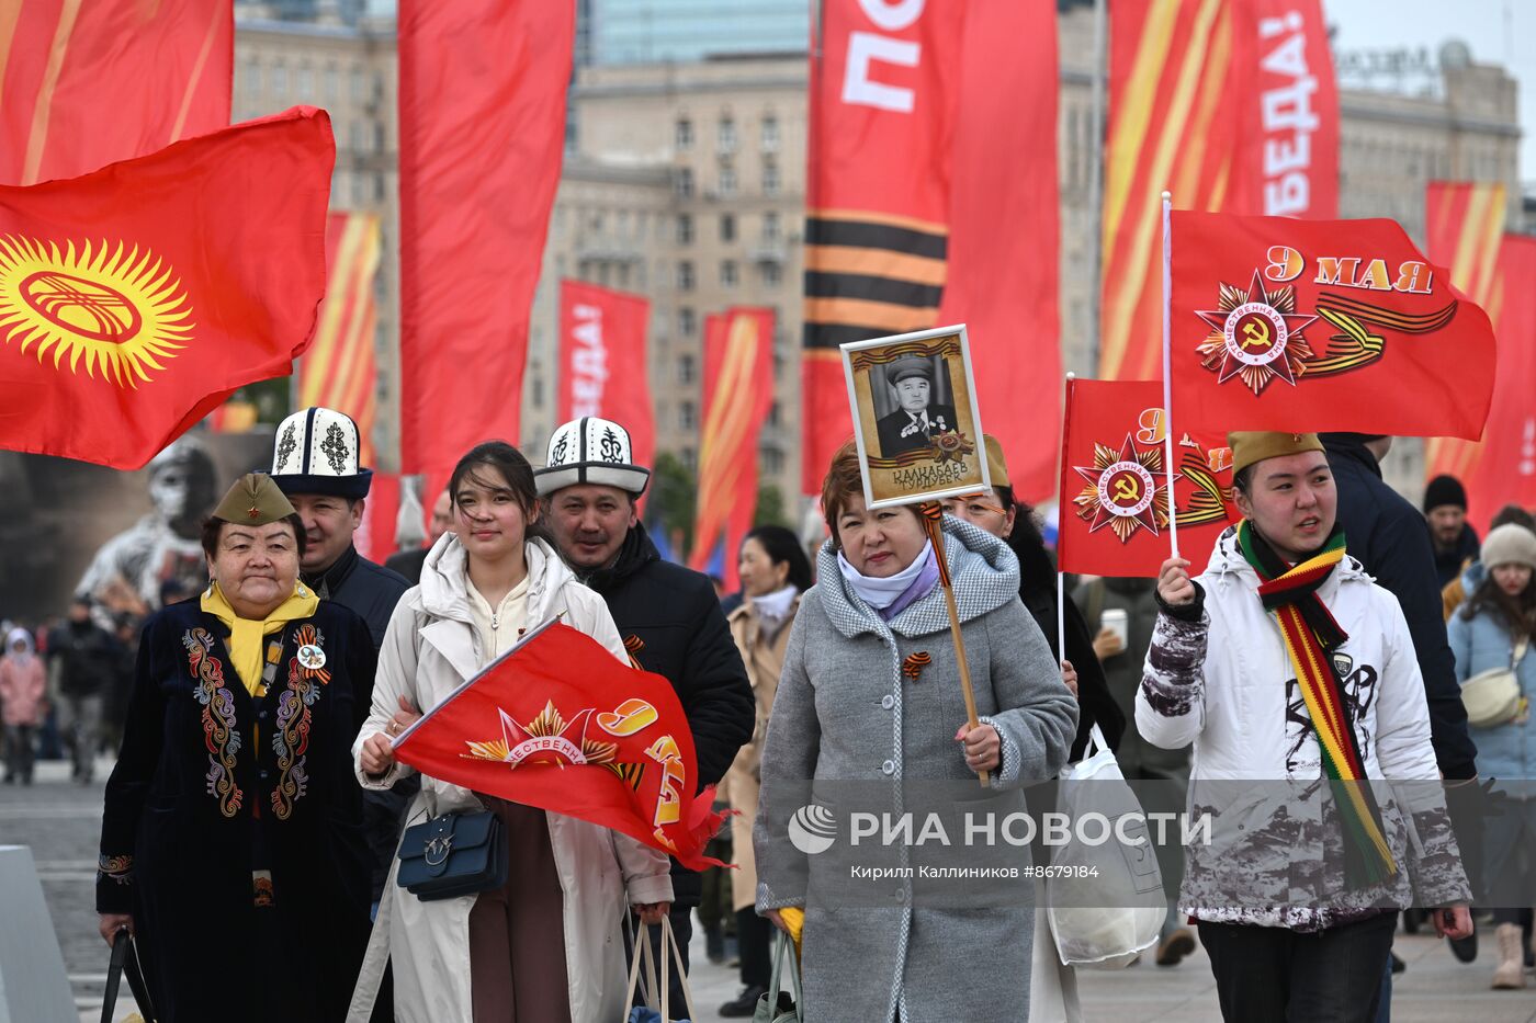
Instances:
[[[628,660],[602,598],[538,536],[533,468],[510,444],[465,455],[449,482],[455,530],[438,538],[390,619],[373,711],[353,747],[358,780],[402,771],[392,737],[554,614]],[[608,828],[422,777],[409,822],[495,811],[507,885],[421,902],[390,877],[352,1001],[366,1021],[386,958],[402,1023],[610,1023],[625,1015],[624,919],[660,923],[673,899],[664,852]]]

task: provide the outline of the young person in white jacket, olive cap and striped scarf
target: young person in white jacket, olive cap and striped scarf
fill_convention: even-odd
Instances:
[[[1137,693],[1147,742],[1193,743],[1190,813],[1213,822],[1180,909],[1224,1018],[1369,1023],[1396,909],[1471,932],[1413,641],[1346,553],[1316,435],[1230,444],[1244,519],[1198,579],[1163,564]]]

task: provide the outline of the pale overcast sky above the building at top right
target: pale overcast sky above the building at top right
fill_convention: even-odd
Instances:
[[[1536,181],[1536,2],[1324,0],[1322,9],[1329,23],[1338,28],[1336,51],[1427,46],[1435,57],[1442,43],[1456,38],[1471,49],[1476,63],[1508,69],[1521,83],[1521,127],[1525,132],[1521,178]],[[1355,80],[1346,78],[1346,84]]]

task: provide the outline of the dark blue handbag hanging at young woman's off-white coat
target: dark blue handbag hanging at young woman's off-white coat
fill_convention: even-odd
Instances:
[[[442,814],[406,828],[395,880],[422,902],[473,896],[507,883],[507,836],[501,817]]]

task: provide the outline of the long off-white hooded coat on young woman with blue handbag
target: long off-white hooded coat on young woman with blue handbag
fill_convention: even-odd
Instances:
[[[538,624],[565,611],[565,622],[625,659],[624,641],[602,598],[576,578],[542,541],[528,541],[527,617]],[[389,788],[412,768],[396,763],[369,777],[359,762],[362,742],[384,731],[406,696],[418,708],[436,707],[478,674],[488,656],[473,625],[464,579],[464,548],[444,535],[427,555],[421,585],[406,591],[390,619],[373,684],[373,713],[353,745],[364,788]],[[421,822],[450,811],[482,809],[468,790],[433,777],[407,814]],[[554,868],[565,894],[565,972],[571,1023],[622,1020],[625,991],[624,919],[630,903],[670,902],[670,862],[664,852],[585,820],[547,814]],[[362,962],[349,1020],[367,1023],[386,960],[395,972],[395,1018],[401,1023],[472,1023],[468,917],[476,896],[421,902],[395,883],[390,868],[373,939]]]

